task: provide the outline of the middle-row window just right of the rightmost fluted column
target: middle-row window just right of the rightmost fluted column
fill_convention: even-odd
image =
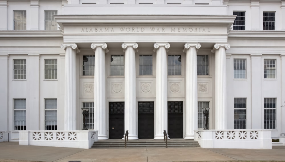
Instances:
[[[246,78],[246,59],[233,59],[233,77]]]

